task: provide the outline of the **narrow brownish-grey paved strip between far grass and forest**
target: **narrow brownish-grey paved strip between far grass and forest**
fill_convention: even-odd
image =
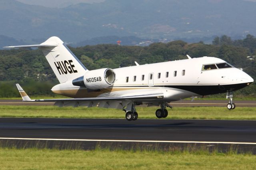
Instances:
[[[256,101],[236,101],[234,103],[237,107],[256,107]],[[200,107],[200,106],[214,106],[214,107],[226,107],[228,100],[180,100],[171,102],[173,107]],[[54,102],[22,102],[22,100],[0,100],[0,105],[41,105],[52,106]],[[146,106],[146,105],[145,105]]]

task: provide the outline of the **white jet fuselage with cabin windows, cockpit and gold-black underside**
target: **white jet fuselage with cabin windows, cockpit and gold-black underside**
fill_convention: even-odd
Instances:
[[[122,67],[113,69],[116,81],[108,88],[90,90],[68,81],[54,86],[52,91],[73,98],[142,95],[156,91],[164,93],[164,101],[170,102],[235,91],[253,82],[244,71],[228,63],[225,67],[224,63],[226,61],[216,57],[200,57]],[[211,65],[215,65],[214,68]]]

